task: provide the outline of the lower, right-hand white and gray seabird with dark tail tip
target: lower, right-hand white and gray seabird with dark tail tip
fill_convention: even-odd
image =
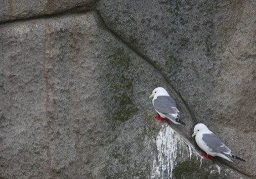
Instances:
[[[207,155],[202,154],[205,158],[211,159],[212,157],[209,156],[211,155],[213,157],[221,157],[230,162],[233,162],[230,158],[244,161],[236,155],[233,155],[231,150],[221,142],[220,138],[218,138],[218,136],[216,136],[206,125],[202,123],[195,125],[192,137],[193,136],[196,136],[196,143],[198,147],[206,152]]]

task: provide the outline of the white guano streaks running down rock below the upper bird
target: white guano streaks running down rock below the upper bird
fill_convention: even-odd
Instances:
[[[198,152],[195,151],[191,144],[182,140],[170,125],[164,125],[158,133],[156,146],[158,154],[156,159],[154,159],[151,178],[172,178],[172,170],[176,164],[175,161],[178,152],[180,154],[179,161],[180,159],[184,160],[188,157],[183,155],[185,152],[189,154],[189,159],[191,159],[192,154],[194,154],[196,158],[199,156]],[[184,150],[181,151],[182,148],[184,148]],[[202,160],[202,158],[200,160]]]

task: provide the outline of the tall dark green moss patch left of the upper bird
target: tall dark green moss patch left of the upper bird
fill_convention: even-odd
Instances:
[[[109,111],[113,119],[124,122],[136,111],[131,99],[134,80],[130,71],[131,57],[124,48],[117,48],[108,59],[110,67],[108,84],[111,91]]]

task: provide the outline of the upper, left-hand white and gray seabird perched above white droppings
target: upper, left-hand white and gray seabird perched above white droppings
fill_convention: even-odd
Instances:
[[[158,115],[156,118],[159,120],[165,119],[169,123],[171,120],[174,124],[186,125],[180,120],[179,110],[177,109],[176,103],[168,92],[162,88],[157,87],[153,90],[152,94],[149,96],[153,97],[152,103]],[[167,119],[166,119],[167,118]]]

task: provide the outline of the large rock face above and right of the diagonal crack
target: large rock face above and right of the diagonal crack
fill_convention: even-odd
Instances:
[[[106,26],[161,71],[197,122],[256,176],[255,1],[99,1]]]

